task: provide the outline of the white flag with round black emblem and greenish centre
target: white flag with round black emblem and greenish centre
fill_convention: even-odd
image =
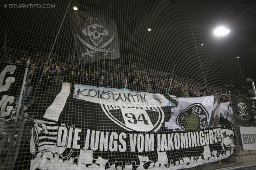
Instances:
[[[165,127],[179,131],[205,129],[210,123],[213,102],[214,96],[179,98]]]

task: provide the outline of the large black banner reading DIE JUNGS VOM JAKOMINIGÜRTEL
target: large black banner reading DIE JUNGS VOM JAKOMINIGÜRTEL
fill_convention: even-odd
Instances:
[[[157,121],[159,116],[164,116],[164,122],[168,121],[173,106],[156,110],[154,106],[134,108],[138,112],[140,109],[152,109],[153,113],[148,114],[154,117],[146,118],[141,114],[139,117],[131,116],[130,121],[124,123],[141,121],[145,126],[142,125],[141,131],[127,130],[110,119],[101,104],[74,98],[73,86],[62,108],[58,95],[62,94],[63,87],[63,84],[55,84],[27,110],[27,113],[36,117],[30,140],[31,170],[57,167],[180,169],[221,160],[234,153],[234,132],[230,129],[174,132],[158,123],[153,123],[159,127],[157,131],[143,129],[149,121]],[[56,102],[62,108],[58,121],[43,118],[47,117],[46,113]],[[114,108],[122,106],[109,107],[113,108],[111,113],[114,117],[119,116],[119,120],[126,115],[114,111]],[[56,115],[57,110],[52,110],[52,114]],[[155,114],[157,110],[161,110],[164,115]]]

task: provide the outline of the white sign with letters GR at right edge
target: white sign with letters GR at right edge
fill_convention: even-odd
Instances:
[[[256,127],[240,127],[244,150],[256,150]]]

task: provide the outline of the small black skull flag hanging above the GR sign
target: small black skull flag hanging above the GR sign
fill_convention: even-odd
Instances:
[[[235,117],[235,123],[240,126],[248,127],[254,123],[252,107],[247,98],[231,96],[231,107]]]

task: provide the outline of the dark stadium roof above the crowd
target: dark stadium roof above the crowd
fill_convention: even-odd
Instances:
[[[62,25],[53,51],[66,57],[74,51],[70,14],[90,11],[116,21],[120,60],[170,72],[175,65],[176,73],[227,84],[256,80],[255,0],[72,0],[62,23],[69,2],[22,0],[15,3],[55,6],[9,8],[14,2],[2,1],[0,46],[50,51]],[[228,35],[216,36],[218,26],[227,27]]]

